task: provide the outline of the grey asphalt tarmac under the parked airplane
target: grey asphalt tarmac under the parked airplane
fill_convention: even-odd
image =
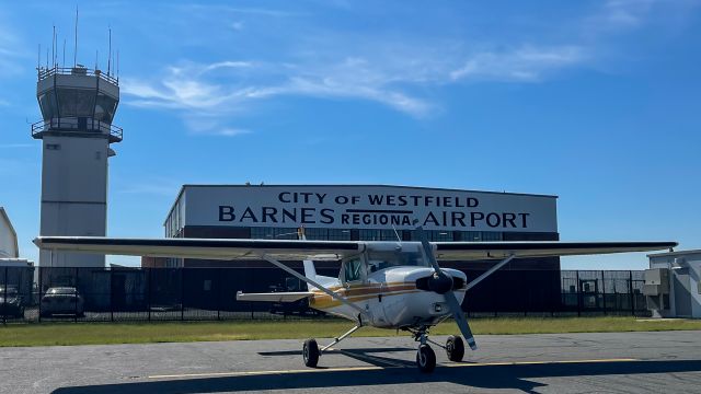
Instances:
[[[468,349],[462,363],[434,346],[433,374],[416,369],[410,337],[348,338],[324,354],[317,369],[303,366],[300,340],[0,348],[0,392],[701,392],[701,332],[476,340],[480,349]]]

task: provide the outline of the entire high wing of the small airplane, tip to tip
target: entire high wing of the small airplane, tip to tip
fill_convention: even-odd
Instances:
[[[340,260],[365,251],[374,241],[283,241],[228,239],[114,239],[100,236],[39,236],[39,248],[108,255],[200,259]],[[409,243],[409,242],[407,242]],[[416,242],[412,242],[416,243]],[[418,243],[416,243],[418,245]],[[677,246],[676,242],[433,242],[441,260],[502,259],[650,252]]]

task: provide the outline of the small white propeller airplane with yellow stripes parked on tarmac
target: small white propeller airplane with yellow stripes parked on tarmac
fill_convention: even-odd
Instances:
[[[233,239],[112,239],[90,236],[39,236],[39,248],[202,259],[264,259],[307,282],[308,291],[274,293],[237,293],[240,301],[295,302],[309,300],[310,308],[348,318],[355,326],[319,347],[307,339],[302,356],[307,367],[317,367],[319,357],[358,328],[372,326],[402,329],[418,341],[416,366],[432,372],[436,355],[428,345],[446,350],[448,359],[461,361],[464,345],[458,335],[446,345],[428,339],[429,329],[453,317],[472,350],[476,344],[460,306],[466,292],[519,257],[593,255],[648,252],[677,246],[676,242],[428,242],[424,230],[416,228],[421,242],[378,241],[265,241]],[[457,269],[440,268],[437,260],[501,259],[487,271],[467,281]],[[303,260],[304,275],[280,260]],[[314,260],[341,262],[338,278],[317,275]]]

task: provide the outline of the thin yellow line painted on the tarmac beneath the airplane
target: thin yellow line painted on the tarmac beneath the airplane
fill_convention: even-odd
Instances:
[[[497,366],[544,366],[544,364],[566,364],[566,363],[591,363],[591,362],[631,362],[639,359],[590,359],[590,360],[560,360],[560,361],[506,361],[506,362],[475,362],[475,363],[448,363],[438,367],[461,368],[461,367],[497,367]],[[222,378],[222,376],[255,376],[291,373],[323,373],[323,372],[349,372],[349,371],[378,371],[387,369],[403,369],[400,367],[343,367],[325,369],[300,369],[300,370],[278,370],[278,371],[248,371],[248,372],[208,372],[208,373],[181,373],[152,375],[148,379],[183,379],[183,378]]]

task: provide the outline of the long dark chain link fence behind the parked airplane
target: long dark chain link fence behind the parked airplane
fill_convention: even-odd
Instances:
[[[337,269],[318,268],[337,276]],[[483,271],[466,269],[468,280]],[[470,290],[470,316],[648,315],[643,271],[501,270]],[[275,267],[0,267],[0,318],[13,322],[146,322],[319,318],[304,300],[239,302],[237,291],[300,291]]]

